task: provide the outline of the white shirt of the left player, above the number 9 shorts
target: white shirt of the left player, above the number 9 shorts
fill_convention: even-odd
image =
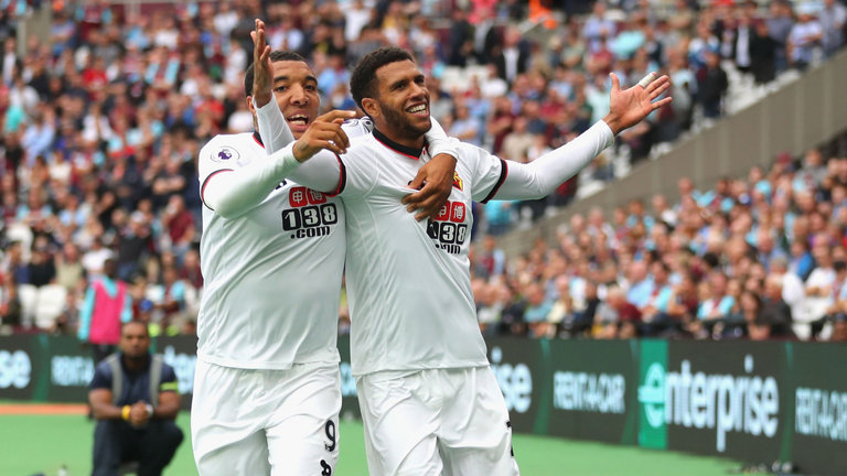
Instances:
[[[201,196],[212,175],[266,160],[253,133],[215,137],[200,152]],[[339,361],[344,242],[340,201],[291,181],[236,218],[204,207],[197,355],[248,369]]]

